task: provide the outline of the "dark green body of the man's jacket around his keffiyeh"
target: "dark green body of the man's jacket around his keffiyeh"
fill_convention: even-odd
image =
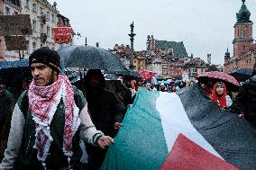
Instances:
[[[86,106],[86,100],[83,94],[78,91],[76,87],[73,87],[75,94],[75,101],[81,111]],[[18,160],[15,162],[14,169],[41,169],[41,162],[37,159],[37,150],[32,148],[35,143],[35,126],[32,120],[32,112],[28,108],[28,96],[24,92],[18,100],[19,107],[25,117],[25,126],[23,130],[23,141],[20,148]],[[68,166],[68,157],[63,154],[63,132],[65,123],[65,106],[61,100],[57,111],[55,112],[53,119],[50,123],[50,135],[53,141],[50,145],[49,155],[45,161],[46,165],[50,169],[59,169],[61,167]],[[71,164],[74,165],[80,161],[82,151],[79,147],[79,130],[76,132],[73,141],[73,156],[71,157]]]

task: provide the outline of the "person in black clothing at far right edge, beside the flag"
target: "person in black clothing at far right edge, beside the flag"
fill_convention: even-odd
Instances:
[[[239,90],[229,111],[240,114],[245,120],[256,126],[256,63],[253,74]]]

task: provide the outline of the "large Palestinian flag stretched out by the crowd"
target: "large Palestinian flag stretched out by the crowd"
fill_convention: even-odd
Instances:
[[[256,169],[256,128],[207,98],[140,88],[102,169]]]

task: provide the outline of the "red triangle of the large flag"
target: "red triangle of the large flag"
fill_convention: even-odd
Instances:
[[[237,167],[227,163],[201,148],[183,134],[179,134],[166,161],[160,170],[238,170]]]

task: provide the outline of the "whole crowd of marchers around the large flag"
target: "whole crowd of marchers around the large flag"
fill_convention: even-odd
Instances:
[[[140,86],[152,92],[176,93],[200,85],[220,109],[256,125],[256,65],[236,96],[221,80],[155,85],[120,77],[130,91],[131,100],[126,101],[105,90],[105,77],[97,69],[87,71],[80,90],[71,85],[69,77],[60,73],[59,54],[54,50],[35,50],[29,66],[32,78],[23,79],[23,88],[17,94],[0,85],[0,169],[81,169],[81,140],[86,144],[87,169],[100,169]]]

